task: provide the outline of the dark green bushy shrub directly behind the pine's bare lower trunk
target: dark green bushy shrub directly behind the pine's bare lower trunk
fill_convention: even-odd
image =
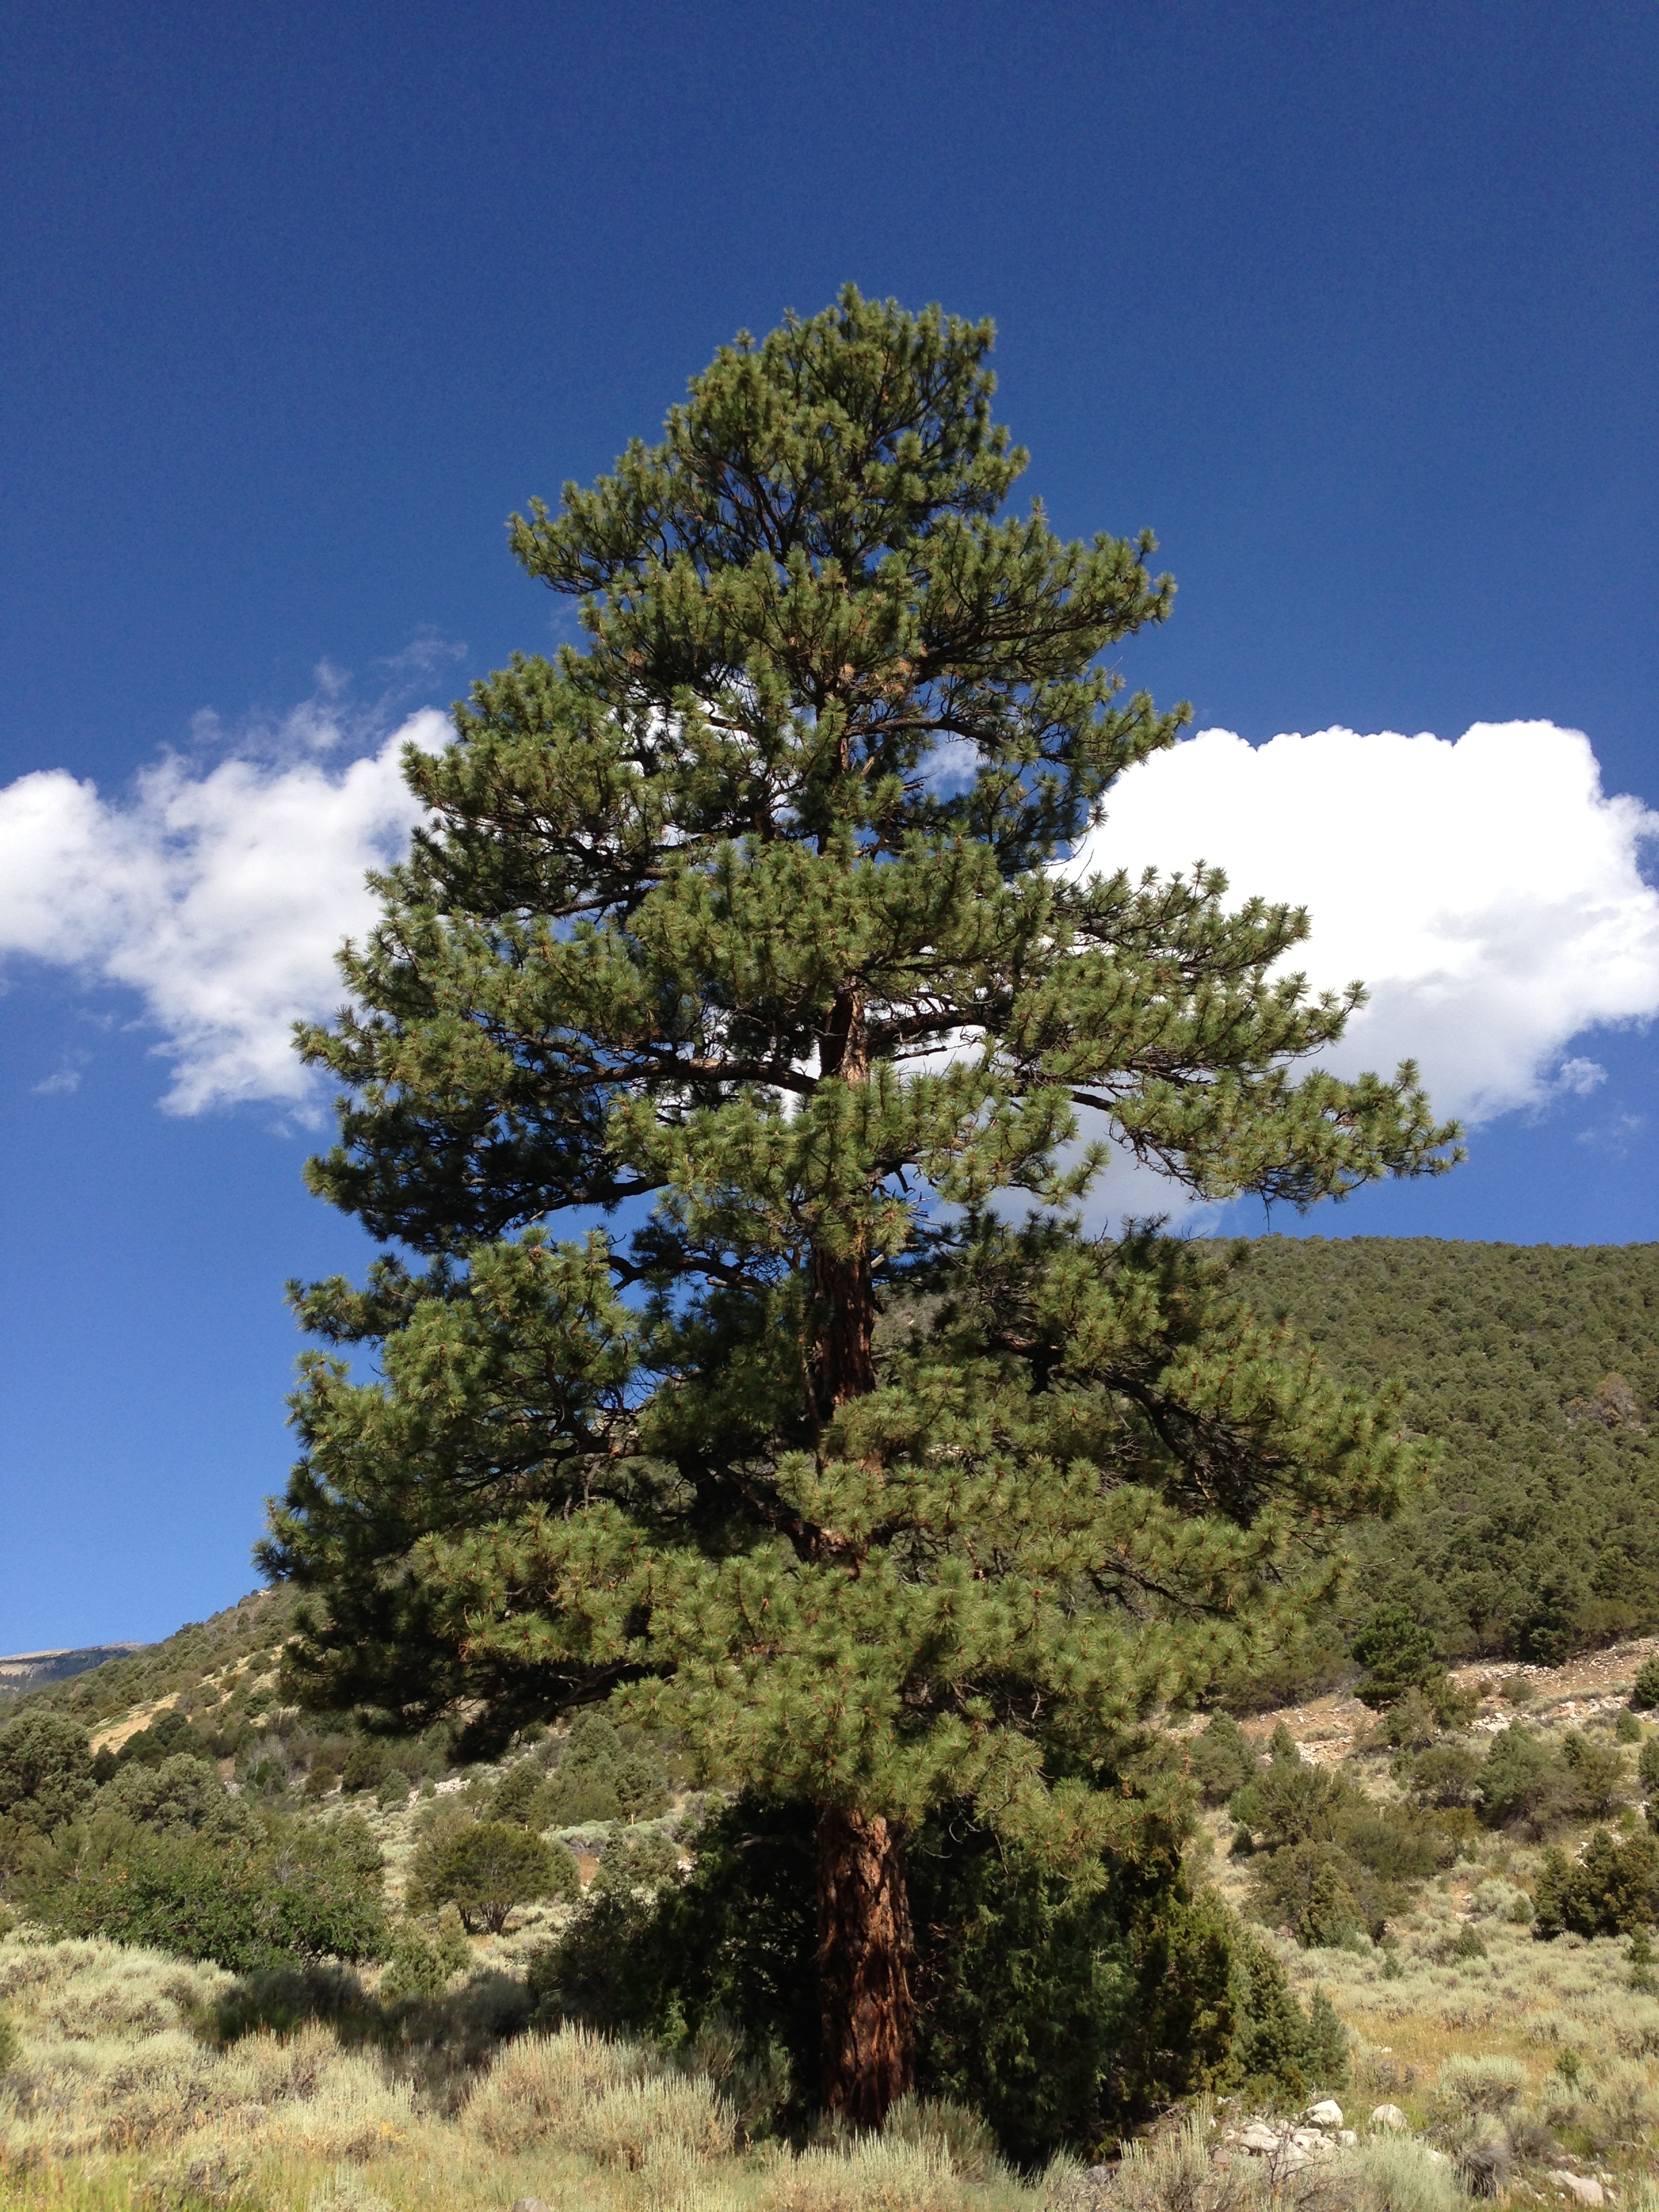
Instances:
[[[796,2084],[816,2081],[812,1847],[807,1807],[739,1798],[703,1825],[684,1880],[648,1896],[595,1880],[531,1960],[538,2024],[692,2048],[739,2022],[748,2066],[776,2079],[783,2055]],[[1261,2004],[1274,2017],[1245,2075],[1292,2101],[1312,2079],[1336,2086],[1279,1962],[1190,1891],[1175,1829],[1148,1820],[1102,1874],[1097,1889],[1060,1880],[945,1816],[911,1838],[918,2095],[982,2112],[1022,2161],[1095,2150],[1232,2079],[1234,2031]]]

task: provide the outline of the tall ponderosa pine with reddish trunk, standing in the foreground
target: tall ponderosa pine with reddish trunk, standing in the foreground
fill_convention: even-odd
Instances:
[[[613,1697],[814,1805],[856,2121],[911,2077],[905,1834],[1088,1878],[1152,1708],[1409,1471],[1214,1267],[1084,1234],[1099,1139],[1307,1203],[1451,1135],[1409,1066],[1296,1075],[1358,1002],[1274,973],[1301,914],[1055,867],[1183,719],[1099,664],[1172,586],[1000,515],[989,345],[847,290],[513,520],[586,646],[407,757],[427,827],[301,1037],[312,1188],[420,1259],[296,1292],[380,1347],[310,1358],[263,1553],[323,1599],[305,1694],[480,1741]]]

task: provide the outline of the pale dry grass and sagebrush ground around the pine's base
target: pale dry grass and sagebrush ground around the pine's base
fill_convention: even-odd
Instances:
[[[1637,1657],[1601,1655],[1595,1681],[1533,1670],[1528,1721],[1546,1734],[1608,1723]],[[1509,1714],[1489,1703],[1478,1730]],[[1387,1756],[1360,1741],[1369,1717],[1347,1705],[1285,1719],[1310,1756],[1340,1759],[1389,1794]],[[422,1798],[387,1809],[365,1796],[352,1809],[387,1854],[396,1900]],[[1228,1858],[1228,1834],[1230,1820],[1210,1816],[1194,1856],[1243,1902],[1248,1865]],[[522,2037],[478,2070],[478,2051],[394,2062],[319,2024],[221,2048],[201,2026],[228,1975],[22,1929],[0,1940],[0,2008],[22,2044],[0,2084],[0,2205],[507,2212],[538,2197],[553,2212],[1252,2212],[1272,2199],[1298,2212],[1449,2212],[1469,2203],[1453,2161],[1484,2130],[1511,2148],[1493,2172],[1498,2203],[1568,2201],[1548,2181],[1568,2163],[1601,2174],[1621,2212],[1659,2212],[1659,1993],[1635,1986],[1626,1942],[1537,1942],[1509,1918],[1537,1860],[1511,1836],[1473,1838],[1396,1916],[1387,1951],[1272,1938],[1298,1995],[1323,1989],[1352,2031],[1349,2119],[1365,2132],[1371,2106],[1398,2104],[1411,2141],[1360,2141],[1274,2181],[1241,2159],[1217,2163],[1230,2115],[1197,2115],[1126,2161],[1108,2197],[1064,2161],[1011,2174],[964,2115],[902,2110],[883,2139],[799,2154],[743,2148],[710,2079],[580,2033]],[[476,1940],[478,1989],[520,1969],[562,1913],[533,1907],[504,1938]],[[1484,1955],[1453,1955],[1471,1931]]]

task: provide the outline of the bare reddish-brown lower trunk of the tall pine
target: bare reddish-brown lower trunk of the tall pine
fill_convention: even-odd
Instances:
[[[818,2011],[823,2101],[878,2128],[916,2073],[909,1896],[880,1814],[818,1807]]]

